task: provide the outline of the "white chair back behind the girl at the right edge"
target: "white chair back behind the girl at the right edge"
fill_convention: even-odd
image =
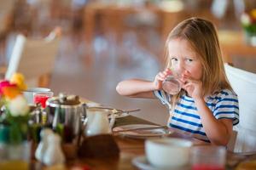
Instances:
[[[256,74],[224,64],[231,87],[238,95],[240,122],[233,128],[234,152],[256,151]]]

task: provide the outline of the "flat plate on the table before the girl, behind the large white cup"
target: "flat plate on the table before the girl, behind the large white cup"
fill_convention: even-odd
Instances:
[[[120,127],[113,127],[113,133],[118,133],[125,137],[136,138],[136,139],[146,139],[163,137],[171,134],[172,132],[166,128],[155,128],[155,129],[143,129],[135,131],[118,132],[120,130],[135,129],[135,128],[147,128],[147,127],[159,127],[158,125],[148,125],[148,124],[131,124]]]

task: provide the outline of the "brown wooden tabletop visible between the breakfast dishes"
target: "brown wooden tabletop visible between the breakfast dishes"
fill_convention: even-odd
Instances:
[[[143,123],[143,124],[154,124],[152,122],[145,121],[143,119],[140,119],[135,116],[126,116],[117,119],[117,122],[115,123],[115,126],[122,126],[126,124],[137,124],[137,123]],[[180,133],[172,133],[170,137],[175,138],[182,138],[182,139],[189,139],[193,142],[194,145],[205,145],[208,143],[205,143],[201,140],[191,138],[189,136],[180,134]],[[143,156],[144,153],[144,142],[143,139],[130,139],[130,138],[123,138],[120,136],[114,136],[114,140],[119,145],[120,149],[120,156],[119,158],[103,158],[103,159],[92,159],[92,158],[76,158],[74,160],[68,160],[67,161],[67,167],[70,169],[70,167],[84,167],[89,166],[90,169],[96,169],[96,170],[118,170],[118,169],[125,169],[125,170],[132,170],[136,169],[131,163],[131,160],[137,156]],[[256,156],[256,155],[254,155]],[[234,165],[237,164],[237,160],[241,160],[243,158],[246,158],[246,156],[240,156],[236,155],[234,153],[228,153],[228,163],[230,164],[229,169],[234,169]],[[43,168],[42,168],[43,167]],[[32,163],[32,169],[52,169],[53,167],[44,167],[39,162],[33,161]],[[58,169],[65,169],[65,167],[56,167]]]

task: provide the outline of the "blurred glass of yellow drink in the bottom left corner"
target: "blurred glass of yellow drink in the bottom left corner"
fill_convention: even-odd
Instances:
[[[28,170],[31,158],[31,143],[0,144],[0,169]]]

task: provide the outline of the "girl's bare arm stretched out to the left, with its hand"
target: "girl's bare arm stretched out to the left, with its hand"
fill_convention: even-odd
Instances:
[[[155,78],[154,82],[131,79],[119,82],[116,87],[116,91],[120,95],[138,98],[154,98],[153,91],[162,88],[162,82],[166,79],[168,75],[172,74],[169,69],[166,71],[159,72]]]

